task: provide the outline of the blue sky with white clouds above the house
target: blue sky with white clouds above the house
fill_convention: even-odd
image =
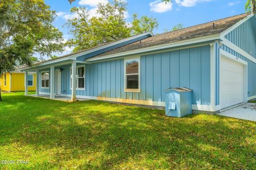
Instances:
[[[51,10],[57,12],[58,17],[53,25],[63,32],[65,40],[72,37],[68,33],[68,28],[63,27],[67,19],[74,17],[69,12],[71,7],[86,6],[90,10],[90,15],[93,16],[97,15],[97,4],[107,2],[108,0],[76,0],[70,5],[68,0],[45,0],[45,3],[50,5]],[[171,30],[178,23],[183,24],[184,27],[190,27],[242,14],[245,12],[246,0],[172,0],[172,2],[165,4],[162,0],[126,0],[126,21],[132,21],[133,13],[137,13],[139,17],[147,15],[156,18],[159,24],[153,33],[163,33],[164,30]],[[67,47],[66,52],[55,55],[65,55],[71,51],[72,48]]]

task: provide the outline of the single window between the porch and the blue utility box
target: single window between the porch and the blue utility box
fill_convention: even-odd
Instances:
[[[125,91],[140,92],[140,58],[125,60]]]

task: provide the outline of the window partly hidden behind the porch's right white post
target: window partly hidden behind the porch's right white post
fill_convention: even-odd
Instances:
[[[85,71],[84,66],[77,66],[76,68],[76,89],[84,90]],[[72,88],[72,68],[70,68],[70,89]]]

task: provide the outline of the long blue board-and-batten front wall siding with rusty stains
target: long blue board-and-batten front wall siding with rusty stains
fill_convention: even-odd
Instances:
[[[164,90],[193,90],[193,104],[210,105],[210,46],[142,55],[141,92],[124,92],[124,59],[85,64],[85,90],[79,96],[165,101]],[[81,64],[79,64],[81,65]],[[70,66],[59,66],[61,92],[71,94]]]

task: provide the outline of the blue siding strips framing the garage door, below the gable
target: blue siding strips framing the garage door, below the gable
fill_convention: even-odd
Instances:
[[[237,53],[235,50],[222,45],[221,47],[219,47],[219,44],[216,43],[215,45],[215,54],[216,54],[216,77],[215,77],[215,82],[216,82],[216,86],[215,86],[215,105],[219,105],[220,103],[220,96],[219,96],[219,92],[220,92],[220,87],[219,87],[219,81],[220,81],[220,65],[219,65],[219,60],[220,60],[220,53],[219,53],[219,49],[223,49],[226,52],[241,58],[243,61],[247,62],[247,66],[248,66],[248,95],[247,97],[252,97],[252,96],[256,96],[256,63],[252,62],[251,60],[249,60],[248,58],[246,58],[245,56]]]

